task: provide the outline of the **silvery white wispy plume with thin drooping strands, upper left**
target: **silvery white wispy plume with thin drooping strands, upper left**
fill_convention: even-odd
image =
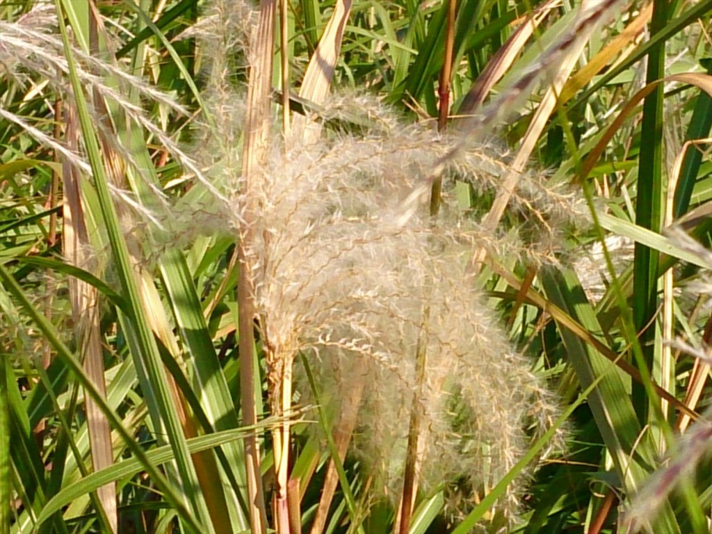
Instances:
[[[14,22],[0,21],[0,79],[6,78],[14,83],[15,88],[35,87],[40,98],[55,98],[56,95],[71,102],[72,95],[68,80],[68,63],[65,57],[63,43],[58,38],[58,21],[53,7],[36,4],[31,11]],[[111,38],[108,35],[108,38]],[[87,90],[95,92],[101,100],[112,103],[126,117],[127,123],[143,128],[152,140],[162,146],[177,162],[184,167],[187,175],[197,179],[201,187],[211,194],[211,204],[219,199],[222,204],[228,204],[229,199],[223,197],[219,189],[206,179],[206,175],[197,166],[192,157],[187,155],[184,147],[174,141],[171,135],[155,123],[140,106],[131,102],[125,96],[127,89],[137,91],[141,98],[160,105],[165,116],[189,117],[191,113],[176,102],[172,95],[157,90],[155,86],[142,78],[130,75],[122,63],[112,63],[85,53],[79,46],[72,46],[71,53],[76,59],[78,76]],[[46,85],[45,85],[46,84]],[[68,150],[63,142],[54,139],[51,132],[36,126],[19,112],[11,112],[3,106],[4,99],[11,99],[8,91],[0,97],[0,117],[14,123],[23,132],[28,133],[36,141],[50,147],[63,155],[68,163],[76,167],[86,176],[91,176],[91,170],[81,151]],[[89,103],[89,111],[94,123],[103,134],[103,140],[112,150],[120,155],[127,167],[135,176],[145,177],[145,169],[135,161],[130,147],[122,144],[122,137],[106,130],[106,112]],[[62,117],[56,117],[62,120]],[[44,125],[44,122],[42,123]],[[46,128],[46,126],[44,126]],[[80,147],[81,148],[81,147]],[[130,192],[125,184],[110,184],[112,194],[119,204],[127,207],[143,221],[150,223],[153,229],[175,232],[174,217],[169,214],[169,200],[166,195],[147,180],[144,182],[152,192],[150,205],[140,204],[135,194]],[[145,201],[145,199],[144,199]],[[207,217],[206,217],[207,220]],[[135,228],[127,228],[133,231]],[[157,234],[155,234],[157,236]],[[145,251],[150,253],[150,251]]]

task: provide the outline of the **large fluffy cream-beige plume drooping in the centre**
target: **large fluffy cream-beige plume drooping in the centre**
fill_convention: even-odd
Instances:
[[[359,98],[359,105],[383,115],[372,100]],[[274,148],[257,193],[256,308],[274,382],[303,352],[335,402],[362,384],[353,449],[392,498],[417,391],[424,488],[449,481],[454,495],[457,482],[464,504],[520,458],[526,428],[543,431],[555,414],[467,270],[474,247],[525,256],[527,246],[507,244],[452,207],[436,226],[424,205],[412,209],[412,192],[456,140],[391,119],[382,116],[378,132],[363,137]],[[449,172],[486,188],[505,170],[483,147]],[[531,189],[545,194],[535,181]],[[535,211],[531,199],[519,201]],[[539,211],[532,216],[546,221]],[[427,352],[422,388],[414,367],[419,345]],[[501,523],[514,517],[519,492],[512,488],[498,505]]]

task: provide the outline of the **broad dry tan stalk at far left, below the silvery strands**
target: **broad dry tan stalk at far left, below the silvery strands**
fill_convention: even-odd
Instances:
[[[79,145],[78,130],[73,110],[68,111],[66,123],[67,144],[72,150],[77,150]],[[67,261],[73,266],[95,273],[96,266],[91,261],[93,253],[82,208],[80,179],[80,174],[76,171],[76,168],[65,162],[63,165],[64,226],[62,252]],[[84,359],[86,374],[103,397],[106,397],[104,360],[97,308],[98,290],[90,286],[90,284],[73,277],[69,278],[68,286],[75,336],[80,354]],[[94,471],[99,471],[111,466],[114,461],[111,446],[111,429],[96,402],[88,395],[85,396],[84,402],[92,467]],[[112,532],[118,532],[116,483],[112,482],[101,486],[97,490],[97,495],[101,506],[104,508]]]

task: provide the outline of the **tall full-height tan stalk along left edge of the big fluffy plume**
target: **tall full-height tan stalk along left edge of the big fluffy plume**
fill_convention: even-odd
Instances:
[[[244,205],[239,206],[244,224],[240,229],[237,248],[239,276],[237,281],[237,303],[239,306],[239,350],[240,350],[240,402],[243,424],[251,426],[257,422],[255,403],[256,368],[254,360],[255,318],[254,288],[250,247],[254,241],[254,220],[256,212],[255,182],[261,179],[261,164],[266,156],[270,129],[270,103],[272,61],[274,48],[275,0],[261,0],[257,28],[251,38],[251,61],[247,90],[247,116],[243,147],[243,191]],[[277,451],[284,455],[286,451]],[[262,491],[260,451],[257,436],[245,440],[245,464],[248,490],[248,512],[253,534],[265,534],[267,518]],[[278,490],[279,491],[279,490]],[[286,487],[284,488],[286,492]]]

